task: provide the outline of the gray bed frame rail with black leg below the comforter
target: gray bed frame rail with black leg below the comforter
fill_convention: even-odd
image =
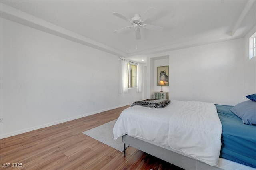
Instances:
[[[204,162],[200,162],[199,160],[189,158],[187,156],[172,152],[171,150],[156,146],[154,144],[128,135],[122,136],[122,141],[124,143],[124,155],[125,145],[128,144],[134,148],[137,148],[138,150],[146,152],[185,170],[222,170],[218,167],[210,166]]]

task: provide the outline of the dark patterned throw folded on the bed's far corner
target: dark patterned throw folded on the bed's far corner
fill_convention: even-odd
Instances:
[[[171,103],[168,99],[146,99],[142,101],[136,101],[131,106],[139,105],[151,108],[163,108]]]

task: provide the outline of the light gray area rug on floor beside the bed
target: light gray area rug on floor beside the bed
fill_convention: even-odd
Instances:
[[[87,130],[83,132],[83,134],[86,134],[87,136],[90,136],[108,146],[111,146],[112,148],[115,148],[120,152],[123,152],[124,144],[122,142],[122,138],[120,137],[116,141],[114,140],[113,127],[116,123],[116,120],[117,119],[100,125],[98,127],[92,128],[90,130]],[[126,145],[126,148],[127,147],[128,146]]]

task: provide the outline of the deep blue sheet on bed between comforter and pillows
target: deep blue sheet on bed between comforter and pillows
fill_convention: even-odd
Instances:
[[[220,157],[256,168],[256,126],[242,123],[232,107],[216,105],[222,124]]]

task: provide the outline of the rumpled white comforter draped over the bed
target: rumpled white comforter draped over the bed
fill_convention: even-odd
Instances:
[[[174,101],[166,108],[125,109],[113,128],[114,139],[128,134],[151,140],[216,166],[222,127],[213,103]]]

